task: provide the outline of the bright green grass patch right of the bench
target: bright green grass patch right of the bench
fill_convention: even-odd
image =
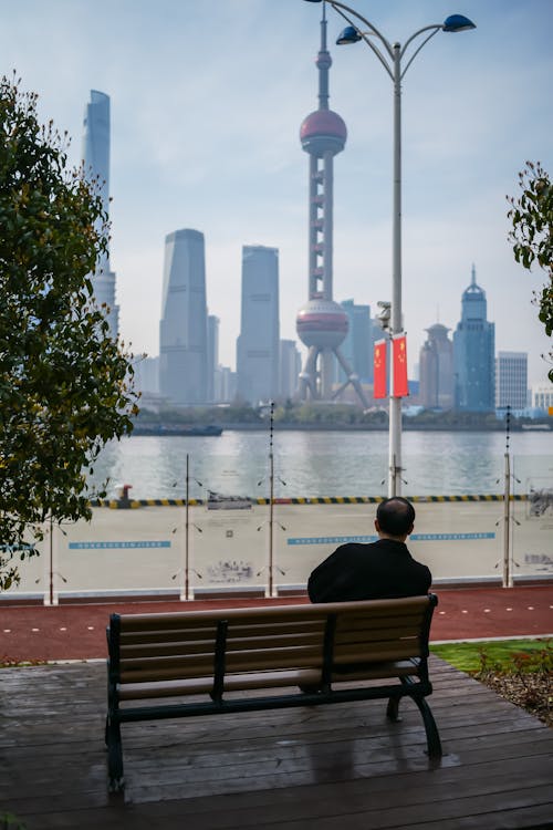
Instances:
[[[528,664],[530,671],[543,666],[544,655],[553,654],[553,641],[539,640],[489,640],[479,643],[430,644],[430,652],[451,663],[461,672],[474,674],[486,666],[497,672],[512,672],[513,665]],[[528,657],[522,657],[528,655]],[[546,661],[547,662],[547,661]],[[538,667],[538,668],[536,668]]]

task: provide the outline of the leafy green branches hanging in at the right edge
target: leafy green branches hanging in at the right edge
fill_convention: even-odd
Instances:
[[[546,273],[546,281],[535,302],[539,319],[549,338],[553,334],[553,186],[540,162],[526,162],[519,173],[519,198],[508,196],[511,208],[508,217],[512,229],[509,240],[513,243],[514,259],[530,270],[534,263]],[[553,352],[550,353],[553,357]],[[553,382],[553,369],[549,372]]]

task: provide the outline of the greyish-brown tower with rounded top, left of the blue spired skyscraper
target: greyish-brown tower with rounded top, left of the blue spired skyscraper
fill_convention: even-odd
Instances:
[[[449,329],[435,323],[426,330],[428,338],[419,357],[419,400],[428,409],[450,409],[453,406],[453,344]]]

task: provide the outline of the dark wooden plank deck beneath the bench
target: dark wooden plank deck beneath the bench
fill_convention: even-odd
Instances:
[[[553,730],[431,658],[445,756],[380,701],[125,724],[108,797],[103,663],[0,671],[0,813],[28,830],[553,828]]]

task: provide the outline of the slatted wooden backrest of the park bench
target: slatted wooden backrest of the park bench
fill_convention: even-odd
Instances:
[[[119,684],[326,668],[428,656],[436,596],[164,614],[112,614]]]

